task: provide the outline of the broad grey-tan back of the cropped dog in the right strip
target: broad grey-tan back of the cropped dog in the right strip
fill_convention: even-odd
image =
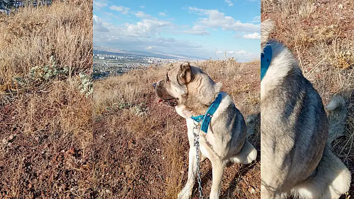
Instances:
[[[318,93],[291,60],[292,54],[280,43],[270,45],[273,58],[261,82],[261,162],[272,172],[262,170],[262,178],[286,192],[318,165],[328,125]]]

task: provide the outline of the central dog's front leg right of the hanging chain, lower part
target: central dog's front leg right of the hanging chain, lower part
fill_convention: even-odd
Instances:
[[[210,191],[210,199],[218,199],[220,195],[221,181],[223,171],[225,170],[225,162],[219,158],[211,161],[212,166],[212,185]]]

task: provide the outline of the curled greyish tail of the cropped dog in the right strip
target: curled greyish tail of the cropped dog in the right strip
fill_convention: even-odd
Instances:
[[[328,110],[329,121],[327,145],[331,147],[334,139],[345,135],[346,119],[348,116],[347,103],[343,96],[337,94],[332,97],[325,108]]]

